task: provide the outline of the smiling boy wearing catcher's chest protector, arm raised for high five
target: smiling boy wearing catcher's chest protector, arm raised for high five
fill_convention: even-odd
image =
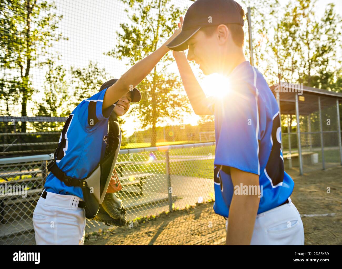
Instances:
[[[108,120],[109,123],[111,121],[116,122],[117,116],[126,114],[131,102],[141,100],[140,91],[134,87],[146,77],[158,61],[170,50],[166,47],[166,44],[176,37],[179,32],[180,29],[176,30],[166,43],[137,62],[119,80],[113,79],[104,83],[100,88],[100,92],[83,100],[68,117],[55,152],[53,166],[50,167],[50,164],[48,167],[48,169],[52,170],[47,176],[44,185],[45,190],[37,202],[32,217],[37,245],[83,245],[87,212],[84,208],[86,210],[89,207],[91,210],[96,209],[96,204],[87,203],[87,199],[84,200],[84,196],[92,196],[89,196],[87,192],[83,192],[83,188],[76,185],[76,183],[83,184],[82,181],[84,180],[81,179],[87,178],[91,173],[95,174],[95,179],[101,178],[101,184],[103,183],[101,173],[103,172],[102,168],[105,166],[101,167],[101,169],[94,169],[103,160],[105,153],[108,156],[106,152],[107,140],[108,136],[112,134],[110,133],[111,124],[108,125]],[[117,132],[120,135],[120,130],[117,130]],[[120,139],[118,137],[113,137],[113,140],[109,139],[110,145],[114,145],[114,143],[111,143],[114,139],[120,141],[121,135]],[[113,152],[118,154],[119,146],[120,143],[118,142],[115,146],[116,151],[110,151],[109,155],[114,156]],[[112,158],[111,162],[112,160],[114,159]],[[116,159],[113,163],[115,161]],[[95,173],[96,171],[99,173]],[[101,199],[103,199],[103,195],[107,196],[108,178],[110,178],[111,171],[109,177],[105,175],[106,180],[104,183],[106,184],[102,184],[97,190],[94,190],[100,193],[99,189],[102,188]],[[76,186],[71,182],[76,182]],[[90,183],[92,182],[89,181],[85,184]],[[107,188],[103,186],[107,186]],[[116,198],[114,197],[114,199]],[[96,200],[94,201],[96,202]],[[119,213],[120,210],[122,212],[121,200],[116,199],[109,202],[119,203],[118,210]],[[92,207],[93,204],[94,207]],[[98,207],[95,214],[97,211]],[[124,217],[126,217],[126,210],[123,211]],[[126,218],[124,221],[126,222]],[[125,222],[122,224],[124,225]]]

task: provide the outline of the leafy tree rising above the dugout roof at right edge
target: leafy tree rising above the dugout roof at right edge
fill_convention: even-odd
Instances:
[[[336,59],[341,46],[341,18],[334,11],[334,4],[328,4],[324,15],[317,19],[316,2],[289,1],[285,13],[275,13],[279,19],[269,43],[277,65],[273,75],[278,82],[337,90],[341,83],[341,61]]]

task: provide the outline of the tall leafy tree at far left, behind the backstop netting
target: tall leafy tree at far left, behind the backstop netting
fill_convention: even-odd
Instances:
[[[55,9],[54,2],[1,1],[1,67],[5,74],[19,77],[15,84],[20,94],[22,116],[27,116],[27,103],[34,92],[31,68],[35,67],[39,56],[48,53],[47,48],[52,46],[53,41],[67,40],[61,33],[56,34],[57,24],[63,16],[57,16]],[[14,80],[7,82],[14,83]],[[7,97],[10,94],[11,91],[6,92]],[[25,122],[21,131],[26,131]]]

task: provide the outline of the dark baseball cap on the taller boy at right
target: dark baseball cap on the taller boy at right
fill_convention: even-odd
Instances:
[[[197,0],[187,10],[182,31],[166,46],[173,51],[188,49],[187,41],[199,29],[220,24],[244,26],[242,7],[233,0]]]

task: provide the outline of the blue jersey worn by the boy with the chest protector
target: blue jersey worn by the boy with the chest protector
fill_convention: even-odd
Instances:
[[[108,119],[114,108],[111,105],[102,113],[106,90],[83,100],[64,124],[55,157],[57,166],[67,176],[76,179],[86,177],[104,157]],[[81,187],[66,186],[51,172],[44,187],[47,192],[76,195],[83,199]]]

